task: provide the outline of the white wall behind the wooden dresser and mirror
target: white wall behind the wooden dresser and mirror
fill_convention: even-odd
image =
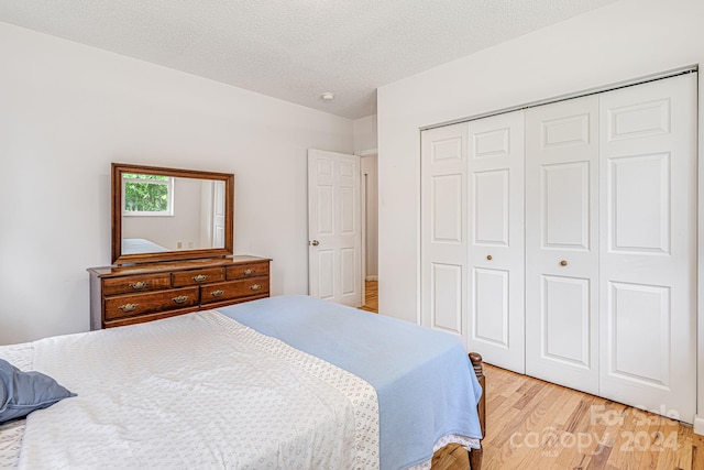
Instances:
[[[0,23],[0,343],[89,328],[110,263],[110,162],[235,174],[235,252],[308,292],[307,150],[353,122]]]

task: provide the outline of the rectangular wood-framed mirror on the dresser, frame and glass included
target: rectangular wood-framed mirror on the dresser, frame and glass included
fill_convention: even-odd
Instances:
[[[114,264],[233,253],[234,175],[112,164]]]

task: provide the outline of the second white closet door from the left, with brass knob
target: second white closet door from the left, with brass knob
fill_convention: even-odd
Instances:
[[[524,373],[524,111],[469,124],[469,348]]]

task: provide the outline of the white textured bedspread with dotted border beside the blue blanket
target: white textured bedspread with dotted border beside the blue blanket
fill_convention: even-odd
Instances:
[[[369,383],[219,313],[33,346],[78,396],[28,417],[22,468],[378,468]]]

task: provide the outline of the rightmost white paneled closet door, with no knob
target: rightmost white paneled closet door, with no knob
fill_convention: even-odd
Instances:
[[[696,74],[601,97],[601,395],[692,423]]]

